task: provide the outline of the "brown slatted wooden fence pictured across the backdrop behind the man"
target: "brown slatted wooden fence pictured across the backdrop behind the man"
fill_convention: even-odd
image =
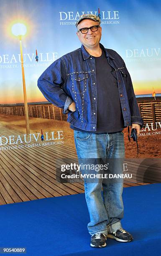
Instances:
[[[156,123],[161,122],[161,102],[143,102],[138,103],[138,107],[141,112],[141,117],[144,123]],[[23,105],[1,105],[0,114],[5,115],[25,115]],[[51,103],[47,104],[28,104],[29,117],[33,118],[46,118],[66,121],[67,115],[63,114],[63,110],[54,106]]]

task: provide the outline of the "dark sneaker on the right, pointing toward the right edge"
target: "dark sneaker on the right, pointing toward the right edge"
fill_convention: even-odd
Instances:
[[[130,242],[133,240],[133,237],[130,235],[130,233],[128,233],[123,228],[119,228],[115,232],[109,233],[107,238],[112,238],[119,242]]]

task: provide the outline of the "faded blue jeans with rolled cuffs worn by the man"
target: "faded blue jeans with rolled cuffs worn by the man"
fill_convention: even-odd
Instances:
[[[95,134],[74,131],[74,141],[79,164],[84,159],[93,159],[93,161],[106,159],[106,163],[108,159],[122,159],[112,161],[110,173],[123,173],[123,159],[125,156],[123,132]],[[81,171],[84,173],[83,170]],[[90,222],[87,225],[89,234],[104,233],[107,235],[107,233],[112,233],[121,228],[123,179],[114,182],[112,179],[102,178],[95,179],[95,183],[84,179],[84,191],[90,216]]]

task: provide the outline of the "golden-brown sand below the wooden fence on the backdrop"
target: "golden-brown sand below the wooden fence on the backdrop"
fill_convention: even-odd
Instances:
[[[42,118],[29,118],[30,133],[43,133],[51,131],[63,131],[64,145],[75,148],[73,130],[69,128],[66,121],[49,120]],[[10,135],[12,129],[19,130],[22,134],[26,134],[25,118],[23,116],[2,115],[0,114],[0,123],[10,127]],[[147,132],[160,132],[161,128],[156,131],[143,131],[145,136],[138,137],[139,154],[137,155],[136,143],[128,141],[128,128],[124,129],[125,138],[125,158],[161,158],[161,134],[148,135]],[[0,134],[0,136],[2,136]]]

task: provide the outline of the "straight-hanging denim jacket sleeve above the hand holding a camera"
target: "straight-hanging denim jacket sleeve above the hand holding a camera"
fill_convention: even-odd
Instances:
[[[143,118],[141,118],[141,113],[138,108],[138,103],[135,97],[135,93],[133,90],[133,84],[131,81],[130,74],[128,72],[128,69],[126,68],[126,65],[124,63],[124,71],[126,76],[126,90],[128,95],[128,102],[130,106],[130,113],[131,113],[131,123],[136,123],[141,125],[141,128],[143,127]]]

